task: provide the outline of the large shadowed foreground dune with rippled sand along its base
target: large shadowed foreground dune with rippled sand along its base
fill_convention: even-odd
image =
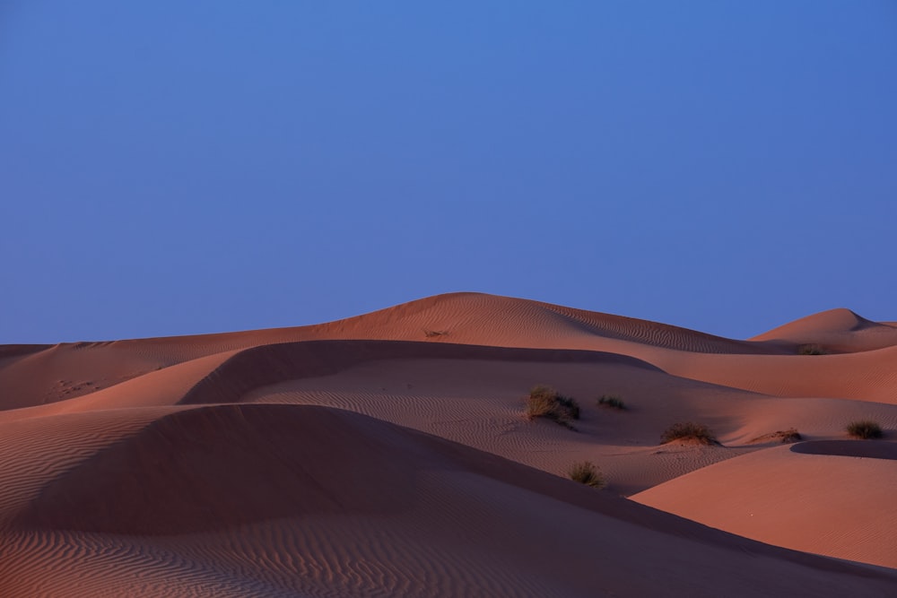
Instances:
[[[20,502],[0,544],[3,595],[884,596],[897,584],[348,412],[176,408],[115,436]]]

